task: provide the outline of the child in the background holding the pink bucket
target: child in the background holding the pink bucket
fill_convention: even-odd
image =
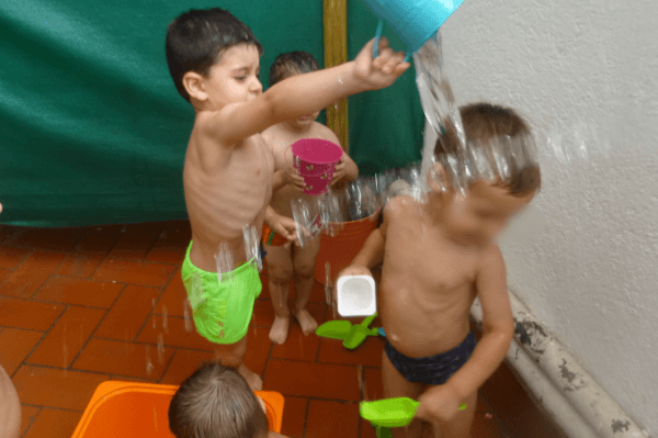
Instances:
[[[303,75],[316,71],[320,67],[318,61],[306,52],[292,52],[276,57],[270,70],[270,85],[282,81],[292,76]],[[319,111],[313,114],[303,115],[279,123],[263,131],[262,136],[272,147],[274,155],[274,170],[287,170],[293,175],[291,179],[300,180],[300,184],[286,184],[272,194],[270,206],[285,217],[293,217],[291,201],[293,199],[310,200],[313,196],[304,194],[300,189],[304,188],[304,179],[296,175],[297,171],[291,166],[292,156],[290,146],[300,138],[322,138],[339,144],[338,137],[327,126],[315,120]],[[287,151],[287,154],[286,154]],[[336,166],[336,172],[331,184],[339,181],[353,181],[359,176],[359,168],[347,154]],[[304,335],[314,333],[318,323],[308,313],[306,308],[314,284],[314,271],[318,252],[320,250],[320,222],[319,212],[316,220],[311,223],[309,242],[304,245],[291,245],[287,239],[272,232],[265,224],[263,225],[262,240],[265,248],[265,260],[268,262],[268,273],[270,277],[270,295],[274,306],[274,324],[270,329],[270,339],[275,344],[285,342],[291,322],[291,312],[287,306],[287,295],[291,279],[294,276],[296,292],[295,307],[293,315],[299,322]]]

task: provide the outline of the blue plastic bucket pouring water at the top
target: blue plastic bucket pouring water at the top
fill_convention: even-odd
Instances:
[[[407,58],[418,50],[426,41],[457,10],[464,0],[363,0],[379,18],[373,55],[377,57],[377,45],[384,27],[388,23],[393,31],[407,45]]]

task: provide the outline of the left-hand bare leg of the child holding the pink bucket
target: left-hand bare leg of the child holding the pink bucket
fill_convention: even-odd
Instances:
[[[270,276],[270,296],[274,307],[274,324],[270,329],[270,340],[283,344],[287,338],[291,312],[287,307],[288,290],[293,278],[293,261],[290,246],[265,245],[265,260]]]

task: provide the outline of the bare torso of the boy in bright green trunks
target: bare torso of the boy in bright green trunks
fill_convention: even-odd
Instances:
[[[232,251],[235,266],[247,261],[243,226],[260,231],[272,194],[274,161],[260,134],[232,148],[204,136],[197,120],[188,145],[183,170],[185,203],[192,226],[191,261],[216,271],[220,243]]]

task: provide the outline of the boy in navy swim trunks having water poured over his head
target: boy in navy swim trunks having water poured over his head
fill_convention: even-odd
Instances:
[[[534,156],[529,127],[513,111],[475,104],[461,112],[475,154],[509,137],[515,153]],[[341,272],[372,274],[370,268],[384,263],[384,396],[421,402],[408,428],[393,429],[395,438],[417,438],[421,431],[468,437],[477,390],[503,360],[514,334],[504,261],[495,238],[540,190],[540,168],[536,160],[523,166],[510,161],[504,180],[472,178],[461,194],[440,182],[451,168],[445,150],[457,150],[457,145],[454,135],[439,137],[427,202],[407,195],[392,199],[382,226]],[[477,345],[468,323],[476,296],[484,313]]]

